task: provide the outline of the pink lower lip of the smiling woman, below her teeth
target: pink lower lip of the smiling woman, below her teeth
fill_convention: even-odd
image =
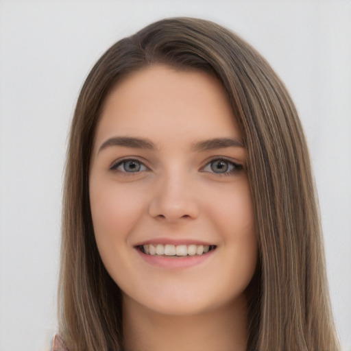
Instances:
[[[195,256],[154,256],[149,254],[144,254],[141,250],[136,249],[138,254],[141,255],[143,260],[145,260],[150,265],[154,265],[162,268],[189,268],[200,265],[204,261],[208,260],[213,255],[215,250],[210,250],[206,254],[195,255]]]

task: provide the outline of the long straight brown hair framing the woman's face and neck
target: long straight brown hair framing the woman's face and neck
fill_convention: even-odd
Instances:
[[[293,102],[269,64],[236,34],[209,21],[178,18],[110,47],[77,101],[59,289],[60,332],[71,351],[123,350],[121,291],[99,257],[90,215],[90,154],[108,93],[125,75],[158,63],[215,74],[241,125],[259,246],[247,287],[247,350],[339,350],[311,162]]]

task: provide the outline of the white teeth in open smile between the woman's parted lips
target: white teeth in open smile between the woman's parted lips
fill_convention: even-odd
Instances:
[[[143,254],[151,256],[171,256],[171,257],[185,257],[185,256],[201,256],[208,252],[215,250],[216,245],[162,245],[162,244],[147,244],[138,245],[138,250]]]

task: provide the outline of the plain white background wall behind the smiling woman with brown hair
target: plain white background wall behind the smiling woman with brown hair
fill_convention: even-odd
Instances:
[[[0,0],[0,350],[47,350],[56,330],[62,173],[84,77],[112,43],[169,16],[234,30],[291,92],[315,169],[337,328],[351,350],[350,0]]]

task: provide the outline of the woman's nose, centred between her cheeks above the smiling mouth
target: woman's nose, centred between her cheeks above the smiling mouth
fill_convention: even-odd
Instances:
[[[199,215],[199,202],[191,180],[173,175],[156,181],[156,191],[149,203],[150,216],[177,223]]]

